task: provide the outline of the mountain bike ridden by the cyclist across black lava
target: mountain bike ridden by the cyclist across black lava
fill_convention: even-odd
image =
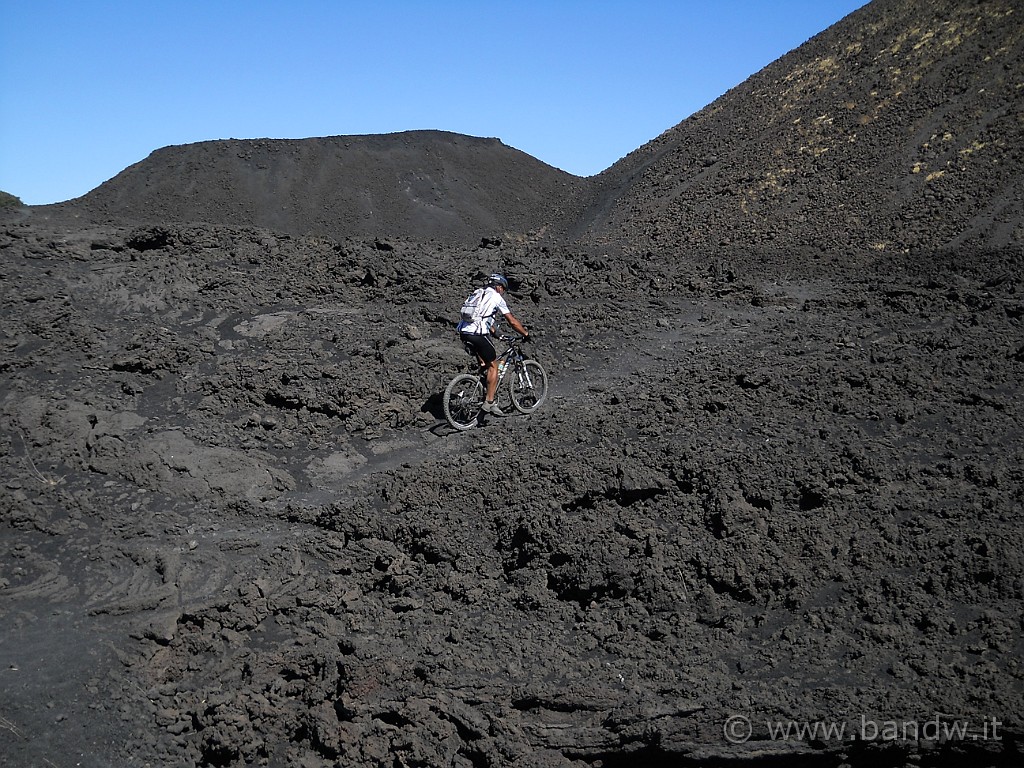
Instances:
[[[531,414],[548,396],[548,374],[535,359],[522,353],[522,336],[501,336],[508,348],[498,355],[498,388],[495,401],[506,411]],[[456,429],[470,429],[479,423],[480,408],[487,387],[487,375],[469,349],[474,373],[457,375],[444,388],[444,418]]]

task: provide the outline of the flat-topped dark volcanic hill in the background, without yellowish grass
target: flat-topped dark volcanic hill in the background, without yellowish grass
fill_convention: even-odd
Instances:
[[[443,131],[227,139],[158,150],[37,215],[477,243],[558,220],[582,183],[498,139]]]

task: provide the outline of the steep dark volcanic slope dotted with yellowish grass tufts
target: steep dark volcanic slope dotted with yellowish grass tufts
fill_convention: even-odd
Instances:
[[[1018,3],[876,0],[592,179],[574,234],[880,258],[1024,242]]]

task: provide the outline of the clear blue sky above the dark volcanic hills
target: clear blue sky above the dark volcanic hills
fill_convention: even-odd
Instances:
[[[865,0],[0,0],[0,190],[170,144],[433,128],[598,173]]]

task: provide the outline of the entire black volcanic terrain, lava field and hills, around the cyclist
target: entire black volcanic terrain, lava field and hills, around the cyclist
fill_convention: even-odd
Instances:
[[[0,763],[1019,765],[1018,14],[876,0],[593,179],[211,142],[4,211]],[[455,432],[494,270],[550,396]]]

